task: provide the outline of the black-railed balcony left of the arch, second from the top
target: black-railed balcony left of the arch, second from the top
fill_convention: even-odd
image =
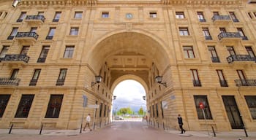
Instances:
[[[15,36],[20,42],[31,42],[34,43],[37,41],[38,34],[35,32],[18,32]]]

